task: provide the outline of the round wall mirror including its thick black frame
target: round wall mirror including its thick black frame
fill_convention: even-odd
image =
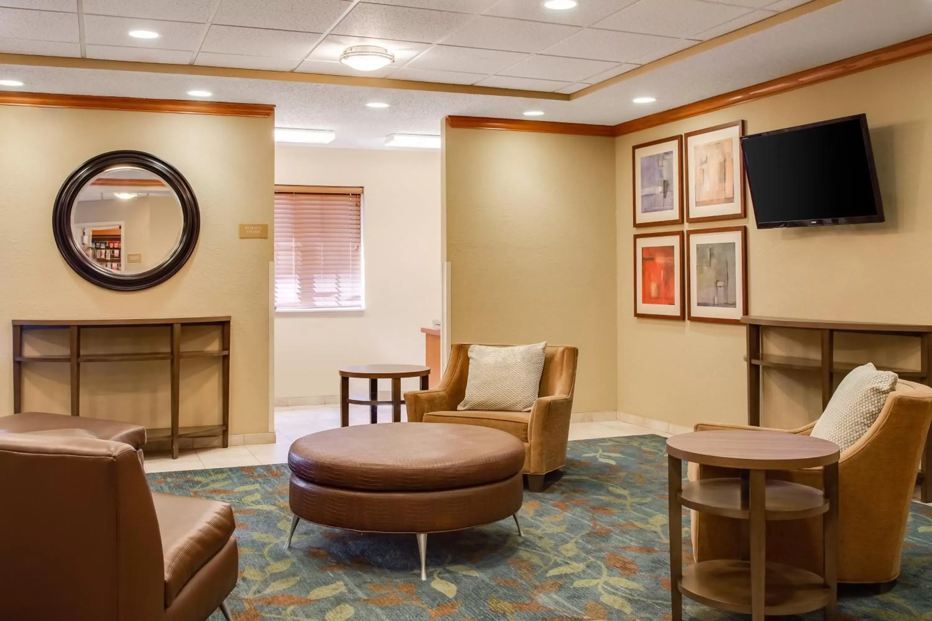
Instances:
[[[198,243],[198,201],[185,177],[155,155],[114,151],[89,159],[55,199],[55,242],[82,277],[112,290],[154,287]]]

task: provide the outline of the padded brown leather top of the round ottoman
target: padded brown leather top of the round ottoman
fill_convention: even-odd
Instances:
[[[328,429],[295,440],[299,479],[344,490],[452,490],[521,472],[524,444],[476,425],[383,423]]]

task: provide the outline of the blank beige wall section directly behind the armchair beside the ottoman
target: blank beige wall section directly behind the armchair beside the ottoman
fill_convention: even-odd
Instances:
[[[616,409],[610,138],[445,128],[451,343],[580,348],[576,412]]]

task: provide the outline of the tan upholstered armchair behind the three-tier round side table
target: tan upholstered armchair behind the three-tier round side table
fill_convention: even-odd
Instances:
[[[910,515],[916,472],[932,421],[932,388],[900,380],[868,432],[842,452],[839,462],[838,580],[889,583],[899,574],[903,536]],[[809,435],[813,425],[787,433]],[[744,425],[695,426],[760,429]],[[774,431],[770,429],[769,431]],[[690,479],[737,476],[734,471],[690,464]],[[821,468],[768,473],[821,489]],[[737,520],[692,512],[695,560],[738,559]],[[767,522],[767,560],[822,574],[822,519]]]

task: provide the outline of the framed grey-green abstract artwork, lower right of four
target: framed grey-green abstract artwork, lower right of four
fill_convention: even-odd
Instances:
[[[690,321],[741,323],[747,315],[747,226],[686,232]]]

